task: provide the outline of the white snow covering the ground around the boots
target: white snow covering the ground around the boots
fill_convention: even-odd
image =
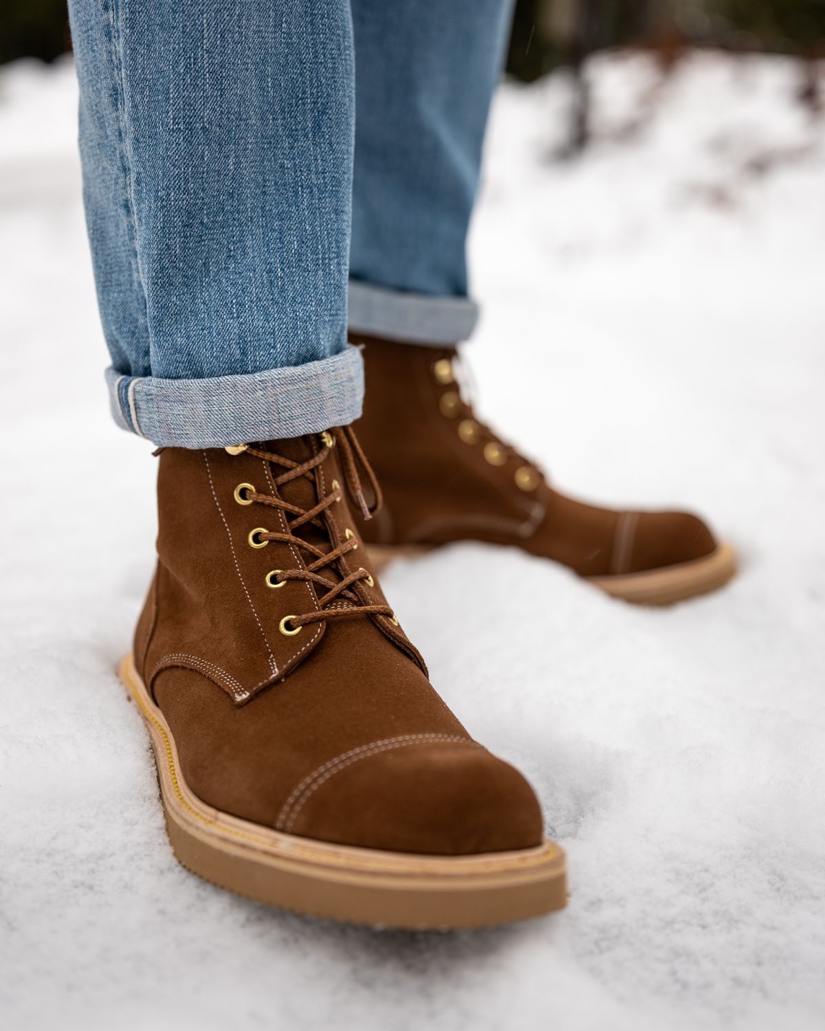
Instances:
[[[72,71],[0,72],[4,1028],[824,1026],[825,121],[781,59],[590,74],[579,162],[553,160],[563,78],[496,101],[482,409],[564,488],[706,512],[742,571],[663,611],[477,546],[391,571],[570,864],[563,913],[424,935],[269,911],[172,859],[113,672],[155,463],[108,420]]]

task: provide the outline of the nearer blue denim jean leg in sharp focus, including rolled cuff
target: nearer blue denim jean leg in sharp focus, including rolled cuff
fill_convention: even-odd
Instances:
[[[70,0],[112,410],[157,444],[360,411],[346,0]]]

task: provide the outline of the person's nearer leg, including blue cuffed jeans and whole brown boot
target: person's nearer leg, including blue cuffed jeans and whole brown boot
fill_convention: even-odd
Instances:
[[[242,895],[366,923],[564,905],[532,789],[436,695],[353,530],[380,491],[341,425],[362,393],[345,0],[71,10],[113,408],[165,445],[121,671],[175,853]]]

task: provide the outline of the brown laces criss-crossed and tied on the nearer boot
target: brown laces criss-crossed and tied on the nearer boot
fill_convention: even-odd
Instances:
[[[298,479],[301,476],[306,476],[312,484],[312,487],[316,487],[314,470],[321,465],[321,463],[329,455],[332,447],[337,443],[341,455],[340,466],[343,472],[343,477],[346,481],[350,496],[358,504],[359,508],[363,512],[364,519],[371,519],[374,512],[376,512],[381,507],[381,488],[378,487],[375,474],[367,462],[352,427],[345,426],[330,430],[329,433],[322,436],[322,439],[325,439],[325,441],[331,440],[332,442],[325,442],[324,446],[317,455],[307,459],[306,462],[300,463],[293,462],[291,459],[288,459],[283,455],[277,455],[274,452],[265,451],[261,447],[254,447],[250,445],[245,448],[245,451],[248,455],[254,455],[256,458],[263,459],[266,462],[270,462],[272,465],[279,466],[285,469],[280,475],[273,477],[275,491],[279,492],[282,487],[294,479]],[[367,503],[364,496],[361,478],[358,474],[359,463],[367,474],[369,486],[374,496],[372,505]],[[331,505],[335,504],[336,501],[339,501],[342,496],[342,491],[338,488],[321,498],[318,504],[314,505],[311,508],[301,508],[299,505],[292,504],[282,497],[269,494],[258,494],[249,490],[244,492],[245,500],[254,501],[262,505],[268,505],[270,508],[278,508],[284,512],[286,518],[286,533],[278,533],[269,530],[265,532],[261,531],[258,534],[259,540],[277,540],[284,544],[292,544],[295,547],[302,548],[304,552],[314,557],[314,561],[311,561],[305,569],[295,568],[279,570],[275,576],[275,583],[283,584],[287,580],[304,580],[307,584],[316,585],[318,588],[321,588],[326,592],[319,597],[319,611],[306,612],[303,616],[293,616],[289,619],[289,623],[293,631],[296,631],[309,623],[322,623],[328,620],[352,620],[356,617],[362,616],[386,616],[395,623],[395,616],[389,605],[371,605],[364,603],[362,599],[359,598],[358,594],[352,590],[352,588],[358,585],[361,580],[369,580],[370,584],[372,583],[369,572],[363,567],[360,567],[351,573],[348,573],[343,568],[339,569],[338,573],[341,576],[341,579],[337,581],[330,579],[328,575],[323,575],[322,571],[324,569],[331,566],[333,563],[337,563],[345,555],[358,547],[358,541],[354,537],[337,539],[337,529],[335,529],[334,524],[331,521],[325,519],[325,512],[327,509]],[[325,552],[323,548],[304,540],[295,533],[296,530],[302,526],[306,526],[307,524],[318,527],[329,537],[330,543],[332,544],[332,548],[330,551]],[[335,601],[339,602],[339,607],[330,609],[328,606]],[[344,602],[345,604],[340,605],[340,602]]]

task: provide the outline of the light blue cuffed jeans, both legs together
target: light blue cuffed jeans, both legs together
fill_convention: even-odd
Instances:
[[[353,330],[469,335],[465,238],[510,0],[69,8],[125,429],[199,447],[357,419],[348,282]]]

